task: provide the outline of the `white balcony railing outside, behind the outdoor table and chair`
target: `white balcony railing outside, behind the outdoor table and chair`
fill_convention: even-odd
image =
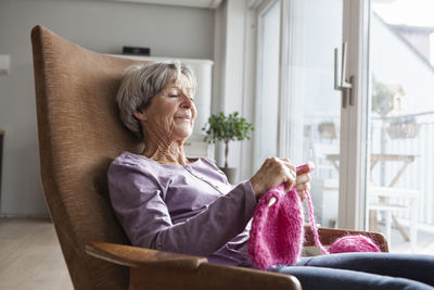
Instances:
[[[339,118],[330,118],[329,123],[340,124]],[[339,139],[327,138],[333,134],[320,134],[320,124],[324,126],[319,118],[311,118],[305,126],[305,159],[315,159],[315,147],[334,146],[339,151]],[[417,133],[407,133],[403,136],[397,133],[390,131],[384,127],[382,119],[372,119],[370,130],[370,150],[373,154],[396,154],[396,155],[413,155],[414,160],[408,164],[405,172],[400,175],[396,188],[412,189],[420,192],[418,223],[432,226],[434,229],[434,121],[418,123]],[[388,124],[388,123],[387,123]],[[323,128],[322,128],[323,129]],[[414,128],[413,128],[414,129]],[[336,128],[339,133],[339,128]],[[394,135],[395,134],[395,135]],[[400,138],[397,138],[400,137]],[[315,172],[317,178],[339,178],[336,168],[329,161],[319,161],[321,171]],[[368,168],[370,164],[368,164]],[[379,162],[370,173],[371,180],[378,186],[387,186],[401,168],[398,162]],[[409,205],[410,202],[406,198],[391,198],[391,202]],[[409,219],[408,212],[396,213],[401,219]]]

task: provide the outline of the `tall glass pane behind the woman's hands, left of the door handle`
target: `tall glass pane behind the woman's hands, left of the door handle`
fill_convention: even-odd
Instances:
[[[315,164],[317,223],[337,227],[342,136],[333,51],[343,42],[343,1],[291,0],[282,9],[279,152],[295,164]]]

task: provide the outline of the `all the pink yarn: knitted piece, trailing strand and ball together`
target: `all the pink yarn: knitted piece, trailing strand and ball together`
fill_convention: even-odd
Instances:
[[[310,168],[312,168],[311,165]],[[323,254],[381,252],[380,248],[365,236],[343,237],[334,241],[327,251],[319,240],[310,194],[307,191],[305,192],[315,242]],[[277,201],[269,206],[271,198]],[[253,265],[259,269],[266,269],[278,264],[295,264],[299,259],[304,241],[303,216],[302,201],[295,189],[284,193],[283,184],[271,188],[260,199],[253,216],[248,239],[248,254]]]

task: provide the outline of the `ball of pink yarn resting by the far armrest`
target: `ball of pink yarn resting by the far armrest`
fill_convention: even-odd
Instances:
[[[381,252],[380,248],[365,236],[346,236],[337,239],[329,248],[329,253]]]

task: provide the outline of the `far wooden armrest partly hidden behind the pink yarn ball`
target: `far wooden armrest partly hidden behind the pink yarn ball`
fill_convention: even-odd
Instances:
[[[362,231],[362,230],[349,230],[349,229],[335,229],[335,228],[318,228],[319,240],[321,241],[322,245],[329,247],[332,244],[336,239],[342,238],[344,236],[349,235],[361,235],[366,236],[380,248],[382,252],[388,252],[388,244],[387,240],[385,239],[384,235],[381,232],[373,232],[373,231]],[[305,225],[305,243],[304,247],[314,247],[315,238],[309,225]]]

